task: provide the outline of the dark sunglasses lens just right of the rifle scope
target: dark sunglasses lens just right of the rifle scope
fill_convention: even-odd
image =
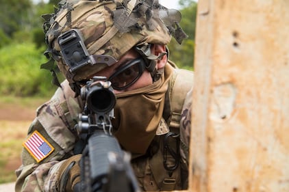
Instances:
[[[135,62],[132,65],[128,64],[127,66],[129,67],[125,66],[116,72],[115,75],[112,75],[109,79],[112,82],[112,87],[115,90],[123,90],[136,82],[142,73],[139,64],[139,62]]]

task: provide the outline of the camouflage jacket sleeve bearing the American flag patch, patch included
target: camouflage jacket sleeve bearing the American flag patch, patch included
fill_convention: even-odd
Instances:
[[[73,155],[77,140],[73,127],[80,109],[79,100],[66,81],[51,100],[37,109],[23,142],[23,165],[16,170],[16,191],[56,190],[53,185],[58,182],[58,167]]]

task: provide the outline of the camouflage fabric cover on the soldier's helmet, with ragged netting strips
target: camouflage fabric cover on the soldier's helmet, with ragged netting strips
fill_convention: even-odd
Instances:
[[[177,42],[186,38],[179,27],[181,14],[168,10],[154,0],[65,0],[55,14],[42,16],[46,22],[45,55],[52,56],[70,83],[91,77],[107,65],[84,66],[70,72],[60,54],[57,38],[65,31],[81,31],[90,55],[110,55],[117,61],[129,49],[140,44],[168,44],[171,34]]]

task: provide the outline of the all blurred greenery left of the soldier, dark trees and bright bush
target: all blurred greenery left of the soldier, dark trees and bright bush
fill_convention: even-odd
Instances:
[[[0,7],[1,96],[51,96],[56,87],[51,84],[50,72],[40,70],[40,64],[47,59],[43,55],[44,33],[39,36],[39,31],[42,30],[40,14],[53,12],[53,5],[34,5],[30,0],[3,1]]]

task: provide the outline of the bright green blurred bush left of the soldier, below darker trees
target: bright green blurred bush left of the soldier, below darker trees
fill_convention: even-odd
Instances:
[[[55,90],[55,86],[50,83],[50,72],[39,68],[39,64],[45,63],[46,59],[35,44],[10,44],[0,50],[0,55],[2,94],[47,96]]]

